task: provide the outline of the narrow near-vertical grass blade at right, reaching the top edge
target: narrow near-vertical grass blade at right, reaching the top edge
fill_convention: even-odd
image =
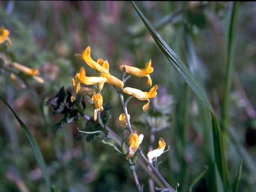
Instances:
[[[233,58],[234,58],[234,42],[235,42],[235,32],[236,32],[236,23],[238,15],[238,2],[233,2],[232,16],[230,20],[230,29],[229,29],[229,38],[228,38],[228,60],[227,60],[227,69],[226,69],[226,80],[225,80],[225,90],[224,98],[222,104],[221,112],[221,121],[220,128],[225,135],[227,134],[227,127],[229,121],[229,99],[230,99],[230,87],[232,81],[232,69],[233,69]]]

